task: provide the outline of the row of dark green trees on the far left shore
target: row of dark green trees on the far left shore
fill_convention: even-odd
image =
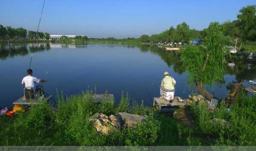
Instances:
[[[0,25],[0,41],[17,41],[17,42],[34,42],[49,40],[50,34],[45,32],[27,31],[26,29],[12,28],[11,26],[4,27]]]

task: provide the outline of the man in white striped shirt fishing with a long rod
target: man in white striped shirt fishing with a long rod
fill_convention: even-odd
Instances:
[[[35,82],[39,83],[39,82],[46,82],[47,80],[45,79],[38,79],[34,76],[32,76],[33,71],[31,69],[27,70],[27,76],[25,76],[22,81],[21,84],[25,84],[25,97],[26,99],[34,99],[34,91],[36,91],[36,87],[35,87]]]

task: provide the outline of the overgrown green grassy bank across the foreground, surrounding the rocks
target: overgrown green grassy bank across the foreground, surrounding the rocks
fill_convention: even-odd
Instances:
[[[203,104],[178,109],[176,115],[159,114],[149,107],[130,104],[128,95],[120,103],[97,104],[92,92],[58,97],[57,111],[47,103],[8,117],[0,116],[0,145],[256,145],[256,98],[239,95],[230,111],[224,103],[213,112]],[[89,117],[130,112],[148,115],[137,129],[116,129],[100,135]],[[182,119],[187,118],[189,122]],[[189,118],[188,118],[189,117]],[[212,118],[227,123],[211,123]]]

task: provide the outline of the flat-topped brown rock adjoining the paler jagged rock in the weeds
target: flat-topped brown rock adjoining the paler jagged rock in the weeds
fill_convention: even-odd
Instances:
[[[133,128],[135,128],[137,122],[143,121],[147,117],[143,115],[130,114],[126,112],[119,112],[115,116],[121,121],[123,127],[131,126]]]

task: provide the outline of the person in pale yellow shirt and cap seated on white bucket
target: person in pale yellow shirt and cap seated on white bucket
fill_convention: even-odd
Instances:
[[[176,84],[175,79],[169,76],[168,72],[164,72],[163,75],[164,75],[164,78],[162,80],[161,87],[160,87],[160,96],[163,96],[164,91],[167,91],[167,92],[174,91],[175,89],[174,86]]]

